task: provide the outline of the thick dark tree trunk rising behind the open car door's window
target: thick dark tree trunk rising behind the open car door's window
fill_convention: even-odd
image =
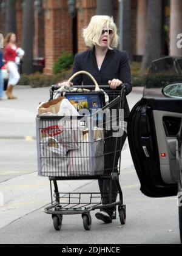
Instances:
[[[162,0],[148,0],[146,44],[141,71],[162,55]]]

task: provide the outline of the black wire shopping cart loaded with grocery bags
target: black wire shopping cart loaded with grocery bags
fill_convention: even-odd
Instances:
[[[96,84],[96,81],[94,82]],[[74,88],[83,87],[74,86]],[[93,90],[94,86],[84,86],[84,88]],[[112,90],[109,86],[99,86],[99,88],[107,93],[109,103],[90,116],[36,117],[38,172],[41,176],[49,176],[50,181],[51,204],[45,207],[44,212],[52,215],[56,230],[61,229],[62,216],[72,214],[80,214],[84,229],[90,230],[92,226],[90,212],[106,207],[118,206],[120,223],[126,223],[126,206],[123,204],[123,193],[119,183],[123,116],[121,111],[112,114],[112,109],[123,109],[125,86],[118,90]],[[59,94],[57,89],[58,86],[52,86],[50,99],[53,99],[55,94]],[[113,121],[115,125],[112,125]],[[67,153],[62,148],[67,148]],[[117,154],[120,154],[118,165],[115,161]],[[104,160],[109,156],[113,159],[111,173],[104,165]],[[104,193],[59,192],[57,181],[73,179],[108,179],[109,204],[102,204]],[[116,202],[112,202],[112,179],[115,180],[118,188],[119,198]]]

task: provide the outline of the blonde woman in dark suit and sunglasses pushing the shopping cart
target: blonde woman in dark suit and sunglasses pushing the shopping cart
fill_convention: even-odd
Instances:
[[[83,37],[86,46],[90,49],[75,55],[73,64],[73,74],[77,71],[88,71],[93,75],[99,85],[110,85],[111,90],[121,89],[123,83],[126,83],[126,94],[132,91],[131,74],[129,57],[126,51],[116,49],[118,46],[118,35],[116,25],[113,18],[109,16],[96,15],[93,16],[89,26],[83,29]],[[87,75],[78,75],[72,80],[70,85],[93,85],[93,81]],[[67,85],[67,81],[61,83]],[[127,118],[129,117],[129,106],[126,95],[124,97],[124,121],[125,127]],[[122,138],[120,137],[120,145],[124,145],[127,134],[126,129]],[[115,147],[115,140],[112,138],[105,143],[111,152]],[[118,147],[118,145],[117,145]],[[120,151],[116,154],[116,165],[120,157]],[[113,166],[113,154],[107,154],[104,159],[107,174],[111,173]],[[99,179],[99,189],[103,195],[103,204],[109,204],[109,180]],[[112,202],[116,201],[118,189],[115,181],[112,181]],[[115,208],[105,208],[101,212],[96,213],[96,218],[104,221],[104,223],[112,222],[112,215]]]

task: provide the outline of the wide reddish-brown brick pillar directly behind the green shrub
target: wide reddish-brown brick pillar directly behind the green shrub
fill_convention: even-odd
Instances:
[[[52,74],[52,67],[62,50],[72,52],[72,17],[67,10],[67,1],[44,2],[44,73]]]

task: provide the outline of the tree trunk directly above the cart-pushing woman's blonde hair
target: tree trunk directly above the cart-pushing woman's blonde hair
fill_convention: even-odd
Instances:
[[[113,16],[113,0],[96,0],[96,15]]]

